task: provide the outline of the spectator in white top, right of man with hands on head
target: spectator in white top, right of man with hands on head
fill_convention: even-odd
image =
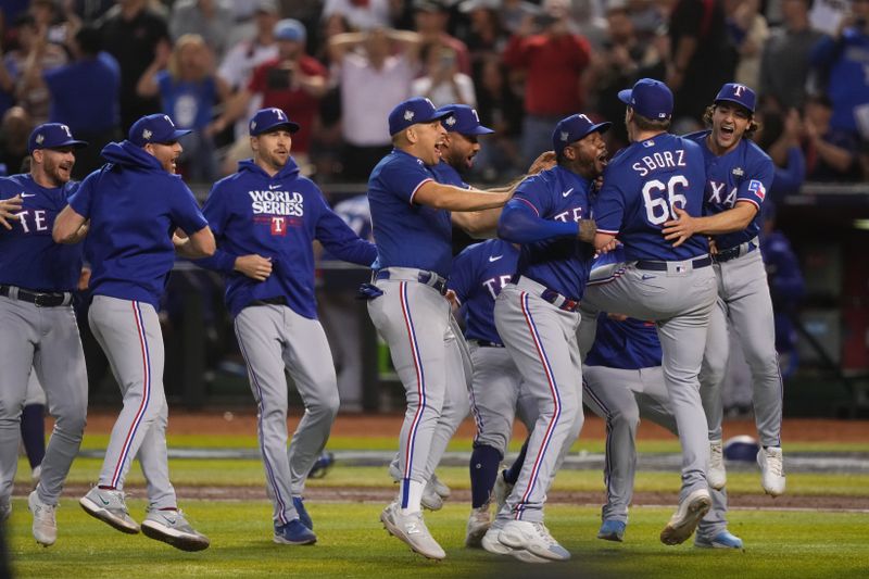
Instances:
[[[411,92],[426,97],[434,106],[445,104],[477,105],[474,80],[458,71],[458,55],[450,47],[426,47],[426,74],[414,80]]]

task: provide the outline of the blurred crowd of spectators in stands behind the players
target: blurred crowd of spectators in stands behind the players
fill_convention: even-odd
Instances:
[[[194,129],[184,175],[210,182],[248,155],[250,113],[279,106],[302,126],[305,172],[364,182],[391,148],[389,111],[425,96],[474,105],[496,129],[475,175],[493,181],[547,149],[570,113],[615,122],[617,150],[616,92],[644,76],[675,91],[676,133],[702,128],[735,80],[758,91],[780,167],[798,151],[809,180],[869,173],[869,0],[5,0],[0,48],[8,173],[36,124],[92,143],[81,178],[102,146],[162,111]]]

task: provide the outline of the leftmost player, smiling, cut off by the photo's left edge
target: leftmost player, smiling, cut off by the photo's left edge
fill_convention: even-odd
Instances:
[[[81,269],[78,241],[86,229],[73,231],[71,246],[51,239],[54,219],[78,185],[70,181],[74,151],[86,144],[66,125],[39,125],[27,143],[29,174],[0,178],[0,520],[12,511],[20,421],[33,368],[55,419],[39,483],[27,498],[34,538],[45,546],[58,538],[54,511],[81,443],[88,405],[85,354],[71,305]]]

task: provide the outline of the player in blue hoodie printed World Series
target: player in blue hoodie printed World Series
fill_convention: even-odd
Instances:
[[[335,364],[317,319],[312,242],[316,239],[336,257],[366,267],[377,250],[300,175],[290,156],[297,123],[280,109],[262,109],[249,128],[253,159],[217,181],[203,207],[218,250],[200,263],[226,275],[226,303],[259,411],[274,541],[312,544],[317,538],[302,495],[339,405]],[[289,451],[285,368],[305,405]]]

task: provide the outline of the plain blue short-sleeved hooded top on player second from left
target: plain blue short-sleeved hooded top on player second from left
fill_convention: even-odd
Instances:
[[[70,198],[73,210],[90,219],[85,243],[90,290],[156,309],[175,264],[173,231],[192,235],[209,224],[181,177],[144,149],[112,142],[102,155],[109,163]]]

